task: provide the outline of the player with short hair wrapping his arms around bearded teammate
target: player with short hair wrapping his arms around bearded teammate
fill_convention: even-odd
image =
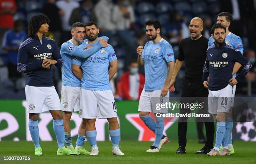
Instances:
[[[84,149],[84,140],[85,140],[85,129],[82,128],[83,123],[79,126],[79,134],[77,136],[76,150],[72,145],[71,137],[71,128],[70,128],[70,119],[72,116],[73,109],[74,111],[79,111],[79,100],[80,100],[80,88],[81,88],[81,79],[78,79],[72,73],[72,58],[80,57],[87,58],[90,55],[94,54],[101,47],[106,47],[108,42],[107,40],[98,40],[95,43],[95,46],[92,48],[83,50],[83,47],[78,48],[82,43],[85,34],[84,25],[80,22],[76,22],[72,25],[72,39],[64,42],[61,45],[61,57],[63,59],[62,70],[62,87],[61,87],[61,105],[63,110],[63,124],[65,130],[65,143],[67,148],[71,149],[74,153],[78,151],[79,154],[89,154],[87,150]],[[106,37],[107,38],[107,37]],[[103,38],[102,38],[103,39]],[[78,70],[79,71],[79,70]]]

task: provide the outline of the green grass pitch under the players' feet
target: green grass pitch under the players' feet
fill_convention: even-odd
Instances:
[[[56,141],[40,142],[43,156],[34,156],[32,142],[2,141],[0,142],[0,163],[28,163],[28,164],[256,164],[256,142],[235,141],[233,143],[236,154],[225,157],[208,157],[194,154],[204,145],[197,141],[188,141],[187,154],[175,154],[177,141],[165,144],[159,153],[146,153],[153,142],[121,141],[120,149],[124,157],[114,157],[111,153],[111,142],[98,142],[99,156],[56,156]],[[75,144],[75,142],[73,142]],[[88,142],[84,147],[90,150]],[[30,156],[30,161],[4,161],[3,156]]]

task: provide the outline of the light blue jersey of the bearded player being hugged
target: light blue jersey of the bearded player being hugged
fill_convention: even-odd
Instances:
[[[79,47],[88,45],[90,44],[85,40]],[[87,59],[73,59],[73,64],[81,65],[82,68],[82,88],[87,90],[110,90],[108,66],[114,60],[117,60],[117,57],[111,45],[101,48]]]

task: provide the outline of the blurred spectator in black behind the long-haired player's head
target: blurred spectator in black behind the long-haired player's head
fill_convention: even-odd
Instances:
[[[49,17],[50,19],[50,27],[49,31],[54,35],[54,40],[60,46],[60,38],[61,38],[61,19],[60,15],[63,15],[64,12],[56,6],[55,0],[47,0],[44,4],[43,12]]]

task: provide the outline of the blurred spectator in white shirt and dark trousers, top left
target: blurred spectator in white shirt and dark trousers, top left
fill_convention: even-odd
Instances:
[[[70,29],[71,26],[69,25],[69,19],[72,14],[72,11],[79,7],[79,3],[73,0],[59,0],[56,2],[57,7],[63,11],[61,15],[61,25],[63,32],[61,33],[62,39],[61,42],[66,42],[67,40],[71,39]]]

